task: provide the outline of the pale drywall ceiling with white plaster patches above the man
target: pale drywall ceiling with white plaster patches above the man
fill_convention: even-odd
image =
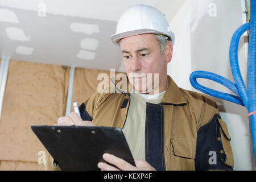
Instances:
[[[0,0],[0,55],[37,63],[125,71],[110,42],[119,16],[151,5],[170,22],[180,0]]]

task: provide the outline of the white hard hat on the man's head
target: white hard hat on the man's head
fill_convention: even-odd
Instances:
[[[147,5],[135,5],[123,12],[118,20],[116,32],[110,36],[110,40],[119,46],[119,40],[122,38],[139,34],[166,35],[172,44],[175,40],[166,16]]]

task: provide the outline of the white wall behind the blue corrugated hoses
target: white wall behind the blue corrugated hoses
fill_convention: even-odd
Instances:
[[[216,16],[212,16],[214,13]],[[168,75],[181,88],[193,91],[196,90],[189,82],[189,75],[193,71],[209,71],[233,81],[229,65],[229,44],[233,32],[241,24],[241,0],[186,0],[170,22],[176,40]],[[242,76],[246,79],[247,61],[243,39],[240,40],[238,59]],[[234,94],[213,81],[201,79],[199,83]],[[217,98],[214,100],[218,103],[221,117],[227,123],[232,138],[234,169],[253,169],[246,108]]]

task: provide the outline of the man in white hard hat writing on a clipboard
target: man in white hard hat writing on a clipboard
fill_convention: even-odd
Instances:
[[[98,167],[232,170],[228,127],[217,104],[203,94],[179,88],[167,75],[174,34],[165,16],[154,7],[135,5],[122,14],[111,40],[120,46],[131,89],[115,85],[121,93],[94,93],[80,106],[82,119],[71,113],[58,120],[59,125],[123,129],[136,167],[111,154],[102,157],[113,165],[100,162]],[[60,169],[50,155],[46,169]]]

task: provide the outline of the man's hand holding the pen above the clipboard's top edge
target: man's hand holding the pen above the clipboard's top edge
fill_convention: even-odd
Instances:
[[[95,126],[91,121],[82,121],[79,115],[75,112],[68,114],[65,117],[58,119],[57,125],[84,125],[84,126]]]

